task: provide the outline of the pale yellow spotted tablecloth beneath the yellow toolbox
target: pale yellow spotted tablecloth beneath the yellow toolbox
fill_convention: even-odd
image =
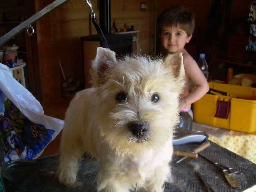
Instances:
[[[209,140],[256,164],[256,132],[230,130],[222,139],[209,135]]]

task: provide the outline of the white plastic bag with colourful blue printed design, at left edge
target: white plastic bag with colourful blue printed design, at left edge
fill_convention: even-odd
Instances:
[[[5,161],[39,157],[63,125],[63,120],[44,115],[39,101],[0,63],[0,150]]]

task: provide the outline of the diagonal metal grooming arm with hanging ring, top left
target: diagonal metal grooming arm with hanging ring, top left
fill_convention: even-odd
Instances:
[[[54,9],[56,9],[57,7],[59,7],[60,5],[66,3],[68,1],[69,0],[55,0],[51,4],[47,5],[42,10],[37,12],[35,15],[33,15],[30,18],[28,18],[27,20],[23,21],[22,23],[20,23],[20,25],[18,25],[17,27],[13,28],[11,31],[9,31],[4,36],[2,36],[0,38],[0,46],[5,44],[6,42],[8,42],[10,39],[12,39],[14,36],[19,34],[25,28],[27,28],[27,33],[28,33],[28,29],[31,28],[32,29],[32,34],[33,34],[33,28],[31,27],[31,25],[33,23],[35,23],[37,20],[39,20],[42,17],[44,17],[44,15],[52,12]],[[28,33],[28,35],[32,35],[32,34]]]

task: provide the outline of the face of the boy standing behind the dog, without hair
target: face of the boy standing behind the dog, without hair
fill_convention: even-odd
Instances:
[[[192,38],[187,33],[180,29],[179,25],[176,26],[162,26],[161,40],[168,53],[174,54],[181,52],[185,44]]]

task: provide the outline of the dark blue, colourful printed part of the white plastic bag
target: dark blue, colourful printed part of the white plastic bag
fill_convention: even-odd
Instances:
[[[0,94],[3,101],[4,93]],[[36,157],[55,131],[30,121],[8,98],[3,103],[5,111],[0,115],[0,136],[5,161]]]

